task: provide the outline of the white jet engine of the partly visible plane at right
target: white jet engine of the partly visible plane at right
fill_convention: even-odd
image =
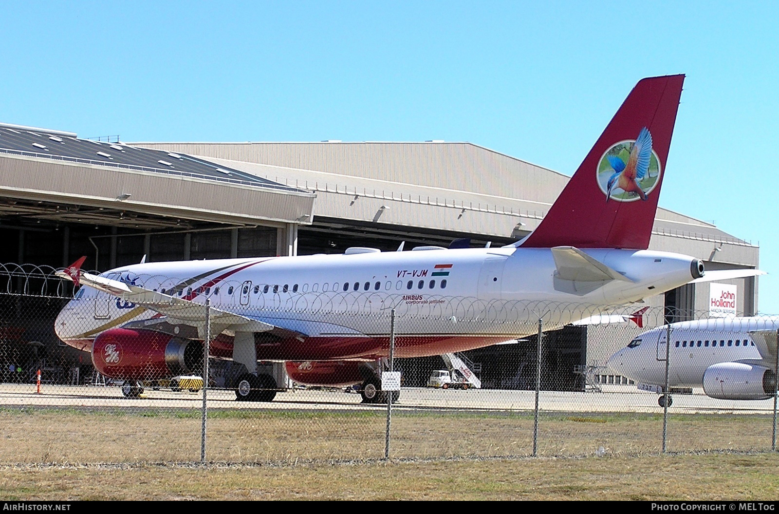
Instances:
[[[703,373],[703,392],[721,400],[762,400],[777,390],[776,374],[762,366],[719,363]]]

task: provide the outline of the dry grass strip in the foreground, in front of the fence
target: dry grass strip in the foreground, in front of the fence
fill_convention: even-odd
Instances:
[[[5,500],[773,500],[779,455],[12,468]]]

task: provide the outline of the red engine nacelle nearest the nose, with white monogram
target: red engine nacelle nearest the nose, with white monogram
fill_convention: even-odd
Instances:
[[[106,377],[157,380],[203,369],[203,343],[162,332],[112,328],[95,338],[92,363]]]

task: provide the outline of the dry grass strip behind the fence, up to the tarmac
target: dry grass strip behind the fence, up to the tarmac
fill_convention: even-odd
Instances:
[[[200,459],[199,412],[182,409],[0,409],[0,463],[169,463]],[[382,411],[210,411],[206,458],[231,463],[364,460],[384,456]],[[766,450],[762,415],[675,415],[668,451]],[[662,417],[545,413],[539,456],[660,452]],[[390,456],[530,456],[529,413],[397,411]]]

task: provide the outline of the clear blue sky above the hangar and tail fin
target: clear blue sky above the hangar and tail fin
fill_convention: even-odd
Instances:
[[[687,78],[661,207],[760,242],[779,314],[779,2],[13,2],[0,121],[127,141],[470,141],[570,175]]]

